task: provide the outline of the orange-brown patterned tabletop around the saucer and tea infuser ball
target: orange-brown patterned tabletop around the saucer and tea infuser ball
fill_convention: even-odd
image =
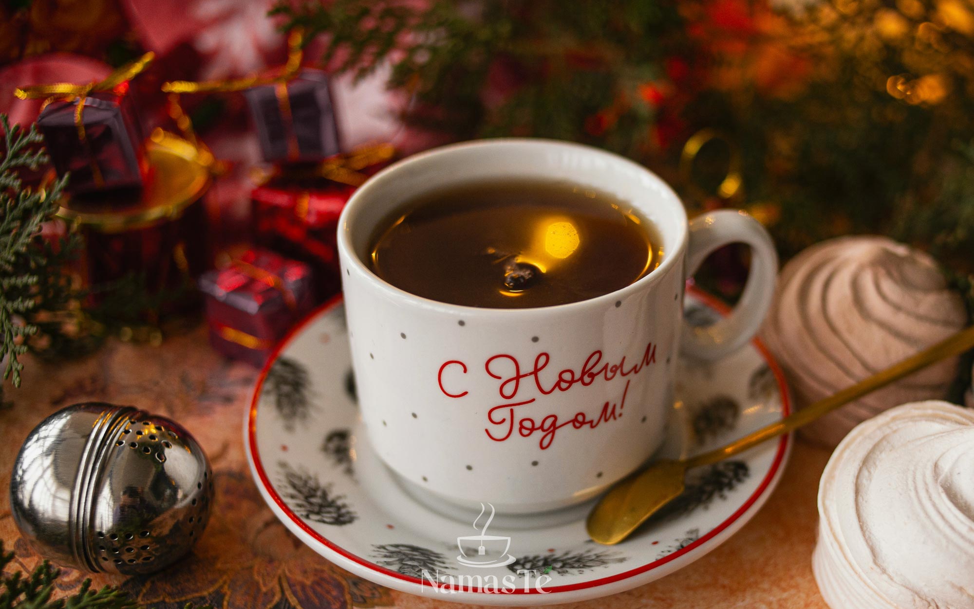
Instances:
[[[150,577],[94,576],[152,609],[187,601],[225,609],[421,608],[457,606],[390,591],[326,561],[271,514],[250,480],[241,425],[256,371],[209,349],[203,328],[161,347],[110,341],[71,363],[27,360],[23,386],[8,389],[0,410],[0,540],[17,557],[8,569],[40,561],[19,537],[6,492],[20,443],[42,418],[70,404],[131,404],[182,423],[206,448],[216,506],[193,554]],[[692,565],[635,590],[560,607],[825,609],[811,572],[815,495],[829,450],[799,440],[781,483],[761,512],[723,546]],[[65,569],[57,595],[77,590],[86,574]]]

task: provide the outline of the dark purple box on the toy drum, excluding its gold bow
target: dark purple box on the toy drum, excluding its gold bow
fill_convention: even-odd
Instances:
[[[71,172],[69,188],[75,193],[141,187],[143,137],[131,100],[112,92],[88,95],[83,129],[77,122],[78,103],[52,102],[37,118],[57,174]]]

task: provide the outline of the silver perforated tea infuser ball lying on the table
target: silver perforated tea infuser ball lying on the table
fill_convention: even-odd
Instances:
[[[69,406],[34,428],[10,484],[14,520],[41,555],[123,575],[185,555],[212,497],[206,453],[185,429],[99,402]]]

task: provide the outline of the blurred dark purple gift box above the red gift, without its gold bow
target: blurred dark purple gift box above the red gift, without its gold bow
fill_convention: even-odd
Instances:
[[[286,85],[244,90],[264,161],[320,161],[341,152],[327,75],[302,69]]]

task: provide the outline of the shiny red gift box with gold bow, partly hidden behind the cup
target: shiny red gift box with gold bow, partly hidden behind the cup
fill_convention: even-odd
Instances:
[[[345,203],[394,152],[390,144],[371,145],[258,178],[250,195],[254,242],[310,264],[319,301],[341,289],[336,233]]]

